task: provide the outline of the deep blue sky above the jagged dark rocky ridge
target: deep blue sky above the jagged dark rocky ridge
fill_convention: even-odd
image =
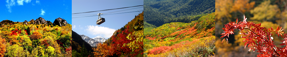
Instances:
[[[57,18],[71,20],[71,0],[1,0],[0,21],[24,22],[39,17],[54,22]]]

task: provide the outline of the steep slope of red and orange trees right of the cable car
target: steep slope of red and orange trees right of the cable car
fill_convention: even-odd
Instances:
[[[94,56],[143,57],[143,15],[139,14],[124,27],[116,30],[106,42],[97,44]]]

